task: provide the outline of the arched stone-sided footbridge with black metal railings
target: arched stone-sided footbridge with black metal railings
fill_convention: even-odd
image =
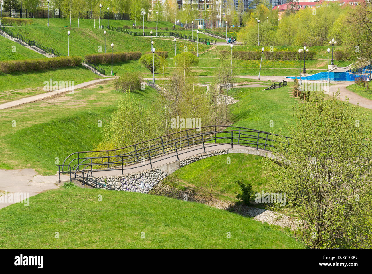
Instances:
[[[58,174],[93,188],[148,192],[179,168],[207,157],[244,153],[273,158],[275,142],[289,137],[243,127],[191,128],[112,150],[74,152]]]

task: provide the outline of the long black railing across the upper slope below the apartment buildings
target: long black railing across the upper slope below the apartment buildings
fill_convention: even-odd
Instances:
[[[111,27],[111,26],[103,26],[103,28],[105,29],[109,29],[111,31],[118,31],[118,32],[124,32],[125,34],[129,34],[129,35],[133,35],[133,36],[147,36],[147,37],[150,37],[150,36],[153,36],[155,37],[155,31],[153,31],[153,34],[151,35],[150,34],[150,31],[129,31],[128,29],[125,29],[125,28],[120,28],[120,27],[117,27],[117,28],[114,28],[114,27]],[[191,41],[191,42],[197,42],[198,41],[198,38],[196,37],[196,35],[188,35],[188,34],[180,34],[180,33],[177,33],[177,32],[161,32],[161,31],[158,31],[158,37],[176,37],[176,38],[179,38],[179,39],[185,39],[185,40],[188,40],[188,41]],[[209,38],[199,38],[199,43],[202,43],[202,44],[211,44],[211,45],[217,45],[217,41],[216,40],[213,40],[213,39],[209,39]]]

